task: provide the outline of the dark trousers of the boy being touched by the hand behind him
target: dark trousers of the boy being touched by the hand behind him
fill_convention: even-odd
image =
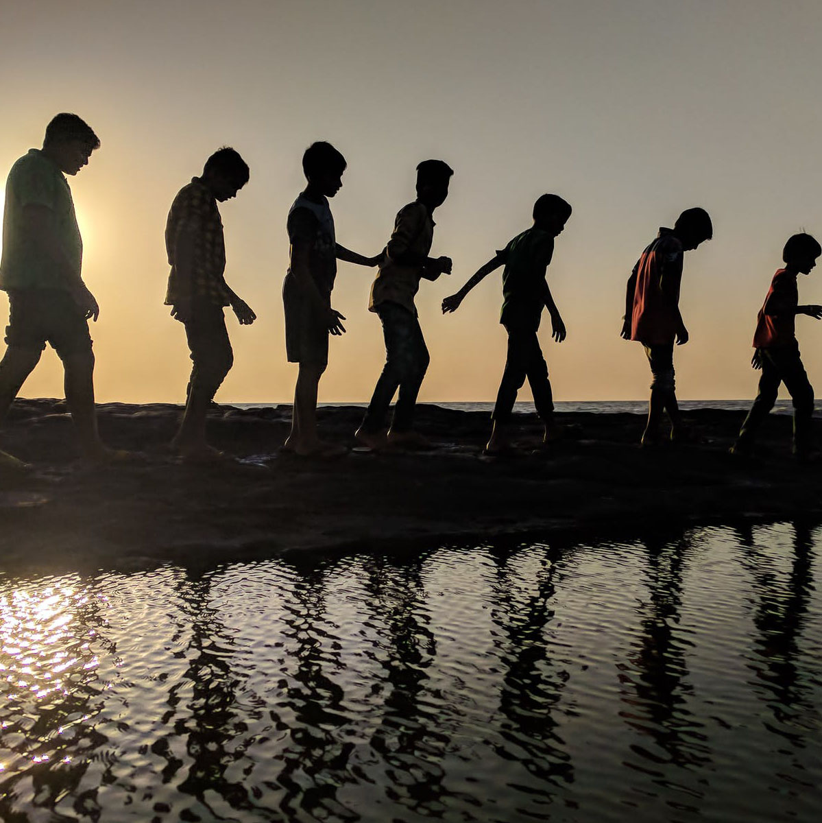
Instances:
[[[416,398],[430,362],[428,348],[420,321],[404,306],[386,301],[380,303],[376,311],[383,323],[385,365],[365,412],[362,428],[371,433],[385,428],[388,407],[398,388],[391,428],[408,431],[414,423]]]

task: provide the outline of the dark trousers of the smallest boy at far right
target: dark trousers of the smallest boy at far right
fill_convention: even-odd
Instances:
[[[776,402],[779,384],[784,383],[793,402],[793,450],[797,454],[806,453],[813,445],[814,389],[802,365],[799,344],[794,341],[787,346],[760,348],[759,356],[762,360],[759,391],[742,424],[737,443],[742,446],[753,443],[759,426]]]

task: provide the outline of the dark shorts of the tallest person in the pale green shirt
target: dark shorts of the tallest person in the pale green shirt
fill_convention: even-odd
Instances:
[[[91,351],[88,320],[67,291],[15,289],[8,306],[9,348],[43,351],[49,343],[61,358]]]

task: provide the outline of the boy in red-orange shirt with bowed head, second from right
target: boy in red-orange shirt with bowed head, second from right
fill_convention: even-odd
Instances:
[[[661,228],[643,251],[625,292],[625,317],[620,337],[643,344],[651,365],[651,398],[643,446],[662,439],[662,412],[671,418],[671,440],[688,439],[676,402],[674,342],[688,342],[680,314],[680,281],[684,254],[713,237],[711,218],[702,208],[690,208],[676,219],[673,229]]]

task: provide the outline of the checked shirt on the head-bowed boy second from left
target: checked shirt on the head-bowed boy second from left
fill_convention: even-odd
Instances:
[[[193,265],[190,275],[183,275],[176,266],[177,247],[184,235],[192,240]],[[171,272],[165,305],[178,300],[205,300],[216,305],[229,305],[225,273],[225,238],[217,201],[202,178],[193,177],[183,186],[171,204],[165,224],[165,250]]]

